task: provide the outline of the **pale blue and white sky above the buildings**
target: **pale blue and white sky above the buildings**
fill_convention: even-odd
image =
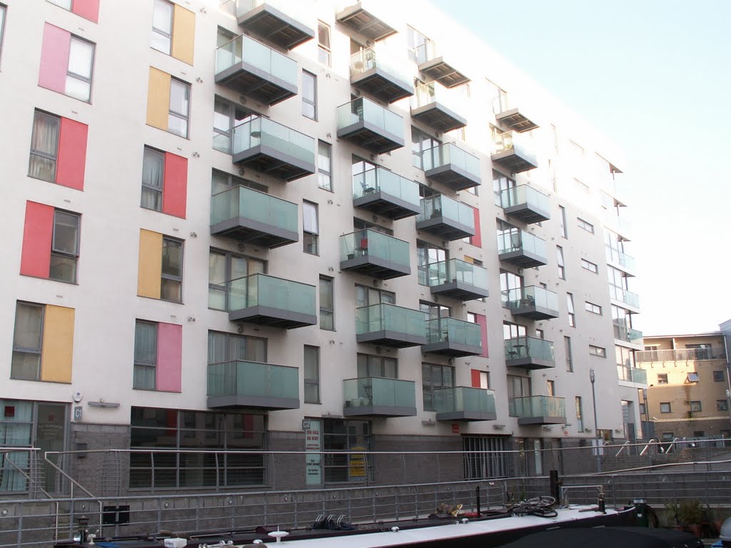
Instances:
[[[432,0],[624,149],[645,335],[731,318],[731,0]]]

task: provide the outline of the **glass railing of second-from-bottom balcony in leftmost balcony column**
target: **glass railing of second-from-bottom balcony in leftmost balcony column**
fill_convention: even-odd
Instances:
[[[315,314],[315,287],[306,283],[252,274],[227,285],[230,311],[262,306],[308,316]]]

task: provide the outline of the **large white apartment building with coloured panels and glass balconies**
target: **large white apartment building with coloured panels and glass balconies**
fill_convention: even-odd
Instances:
[[[640,436],[621,153],[448,14],[1,0],[0,94],[0,445],[96,491]]]

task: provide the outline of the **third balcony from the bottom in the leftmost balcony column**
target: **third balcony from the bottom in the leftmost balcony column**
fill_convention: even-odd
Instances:
[[[235,186],[211,196],[211,234],[277,248],[299,240],[298,206],[264,192]]]

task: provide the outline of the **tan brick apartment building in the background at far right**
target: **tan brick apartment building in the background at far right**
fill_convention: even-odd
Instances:
[[[662,441],[728,438],[728,359],[723,332],[644,338],[637,366],[647,375],[643,419]]]

